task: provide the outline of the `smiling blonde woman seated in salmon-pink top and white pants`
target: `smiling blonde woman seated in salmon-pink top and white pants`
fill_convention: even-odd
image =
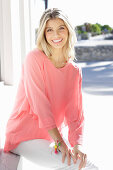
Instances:
[[[84,115],[81,70],[73,62],[75,43],[67,16],[57,8],[45,10],[37,48],[22,65],[15,106],[7,123],[5,152],[28,158],[33,154],[35,162],[53,169],[97,169],[79,149]],[[62,134],[66,125],[70,147]],[[50,145],[53,141],[55,150]]]

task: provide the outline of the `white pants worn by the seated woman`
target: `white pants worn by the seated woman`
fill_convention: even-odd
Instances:
[[[78,170],[80,160],[78,159],[76,164],[73,163],[71,158],[71,165],[67,164],[67,157],[65,162],[62,163],[62,153],[54,153],[53,143],[44,139],[34,139],[22,142],[16,149],[11,152],[22,155],[26,159],[40,165],[45,170],[50,168],[53,170]],[[19,166],[19,165],[18,165]],[[98,170],[98,168],[87,160],[84,170]]]

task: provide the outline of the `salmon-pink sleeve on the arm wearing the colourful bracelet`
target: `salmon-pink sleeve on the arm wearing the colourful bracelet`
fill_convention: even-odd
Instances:
[[[39,128],[55,128],[56,123],[51,110],[51,103],[46,94],[44,76],[40,63],[42,56],[29,53],[24,61],[24,88],[29,105],[38,116]]]

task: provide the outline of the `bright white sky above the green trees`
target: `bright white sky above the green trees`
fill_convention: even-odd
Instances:
[[[113,28],[112,0],[48,0],[48,8],[63,9],[73,26],[89,22]]]

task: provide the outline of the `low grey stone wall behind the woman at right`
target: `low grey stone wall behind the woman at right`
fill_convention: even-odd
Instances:
[[[107,61],[113,60],[113,45],[76,46],[78,61]]]

